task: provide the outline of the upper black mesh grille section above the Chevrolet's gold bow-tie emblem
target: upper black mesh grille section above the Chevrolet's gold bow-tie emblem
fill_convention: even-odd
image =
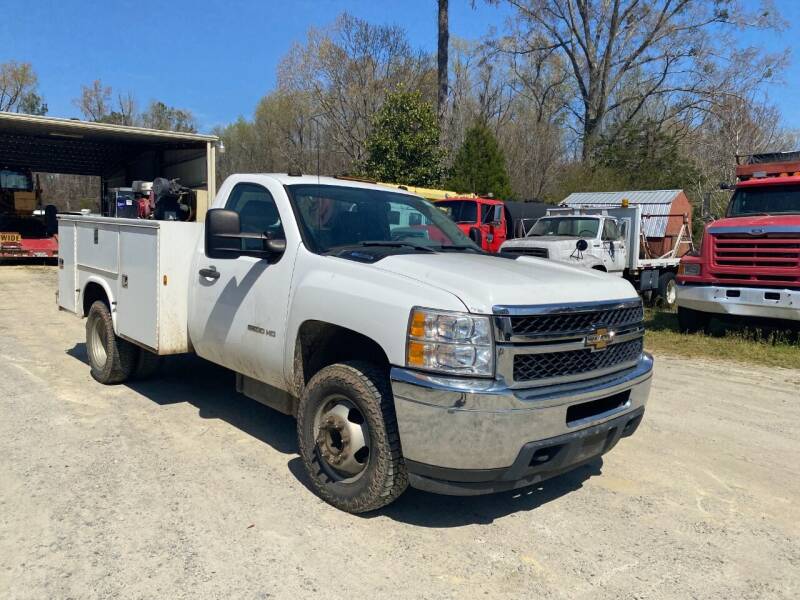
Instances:
[[[598,326],[620,328],[636,325],[643,319],[644,310],[641,303],[638,303],[610,310],[511,317],[511,331],[514,335],[520,336],[566,335]]]

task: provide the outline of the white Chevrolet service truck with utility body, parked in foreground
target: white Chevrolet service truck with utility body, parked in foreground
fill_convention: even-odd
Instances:
[[[332,505],[534,484],[639,425],[653,361],[628,282],[488,255],[418,196],[352,180],[234,175],[213,206],[62,216],[59,305],[87,318],[101,383],[184,352],[235,371],[296,416]]]

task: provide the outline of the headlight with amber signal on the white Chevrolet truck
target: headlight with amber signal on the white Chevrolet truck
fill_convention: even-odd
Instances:
[[[493,375],[489,317],[414,308],[408,321],[406,366],[454,375]]]

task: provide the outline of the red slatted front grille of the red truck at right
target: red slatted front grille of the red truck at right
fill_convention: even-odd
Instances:
[[[710,237],[714,261],[711,275],[716,279],[750,284],[800,283],[800,237],[785,234]]]

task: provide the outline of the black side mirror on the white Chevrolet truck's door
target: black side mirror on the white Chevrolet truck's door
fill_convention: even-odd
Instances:
[[[258,240],[261,247],[243,249],[242,240]],[[209,258],[271,258],[286,251],[286,240],[272,240],[263,233],[243,232],[239,213],[212,208],[206,213],[205,250]]]

